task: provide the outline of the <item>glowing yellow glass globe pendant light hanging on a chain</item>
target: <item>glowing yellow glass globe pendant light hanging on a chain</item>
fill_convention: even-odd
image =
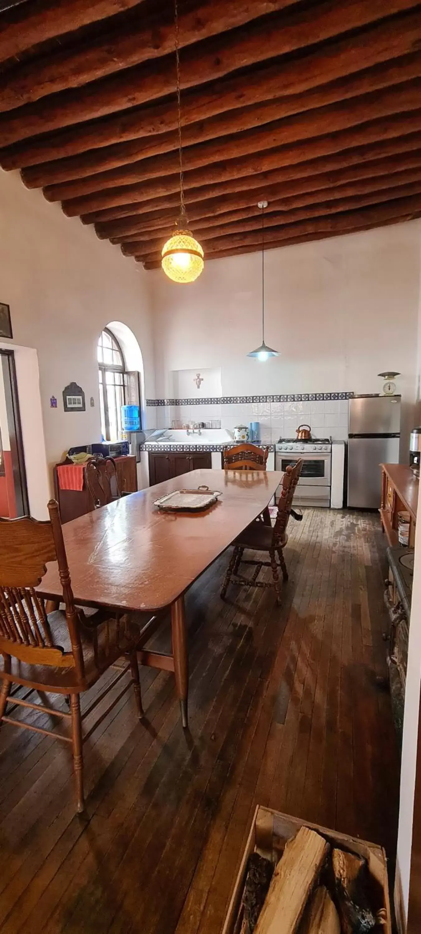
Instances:
[[[203,248],[189,231],[184,203],[183,149],[181,145],[180,55],[178,35],[178,8],[175,0],[175,64],[176,101],[178,114],[178,155],[180,163],[180,216],[175,231],[162,247],[162,269],[173,282],[194,282],[203,272]]]

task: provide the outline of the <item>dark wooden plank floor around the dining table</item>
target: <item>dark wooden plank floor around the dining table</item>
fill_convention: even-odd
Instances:
[[[147,725],[129,694],[86,747],[88,819],[74,814],[67,748],[2,728],[2,932],[218,934],[257,803],[393,860],[379,520],[319,509],[290,527],[282,608],[239,588],[222,603],[227,556],[190,592],[189,732],[172,676],[144,670]]]

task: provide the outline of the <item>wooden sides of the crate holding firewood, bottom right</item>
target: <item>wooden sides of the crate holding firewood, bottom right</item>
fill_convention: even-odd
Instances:
[[[317,833],[320,833],[332,847],[340,847],[343,850],[347,850],[349,853],[355,853],[357,856],[363,856],[364,859],[367,859],[372,880],[372,907],[375,911],[378,911],[380,908],[386,909],[386,922],[383,926],[383,931],[384,934],[392,934],[386,853],[381,846],[377,846],[376,843],[368,843],[365,840],[357,840],[355,837],[348,837],[344,833],[337,833],[335,830],[328,830],[327,828],[319,827],[317,824],[310,824],[307,821],[299,820],[298,817],[290,817],[289,814],[280,814],[278,811],[272,811],[269,808],[260,807],[260,805],[256,808],[253,817],[250,833],[246,842],[246,850],[235,880],[232,899],[222,929],[222,934],[234,934],[235,921],[243,895],[247,861],[250,853],[253,853],[254,850],[258,850],[260,856],[273,859],[275,854],[279,858],[281,852],[284,850],[286,842],[291,837],[294,837],[304,824],[306,827],[310,827],[316,830]]]

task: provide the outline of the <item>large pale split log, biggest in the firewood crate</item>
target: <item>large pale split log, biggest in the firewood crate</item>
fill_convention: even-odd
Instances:
[[[307,827],[288,841],[274,870],[255,934],[294,934],[329,849],[323,837]]]

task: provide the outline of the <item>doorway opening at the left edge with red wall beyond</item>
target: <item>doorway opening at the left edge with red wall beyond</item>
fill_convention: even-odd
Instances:
[[[0,350],[0,517],[29,516],[13,350]]]

